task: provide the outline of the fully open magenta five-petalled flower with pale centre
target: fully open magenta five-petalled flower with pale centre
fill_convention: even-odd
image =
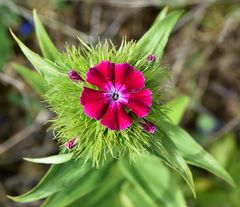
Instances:
[[[101,119],[101,124],[111,130],[128,128],[133,119],[145,117],[152,104],[152,92],[144,88],[141,71],[128,63],[116,64],[102,61],[90,68],[86,81],[99,90],[84,87],[80,103],[90,118]]]

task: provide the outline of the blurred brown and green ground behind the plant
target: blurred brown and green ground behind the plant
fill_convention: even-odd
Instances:
[[[12,63],[31,67],[10,36],[9,28],[32,50],[39,47],[32,24],[36,8],[60,50],[78,44],[79,36],[95,44],[123,36],[138,40],[160,10],[185,10],[165,50],[162,64],[171,73],[170,96],[191,97],[181,125],[229,171],[236,188],[192,168],[194,199],[181,184],[190,207],[240,206],[240,1],[239,0],[0,0],[0,207],[13,203],[6,194],[32,188],[48,166],[22,157],[55,154],[57,144],[46,121],[53,116]]]

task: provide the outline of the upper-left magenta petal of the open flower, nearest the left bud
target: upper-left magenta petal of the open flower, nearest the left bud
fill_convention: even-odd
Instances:
[[[89,69],[86,81],[105,91],[109,89],[109,83],[114,81],[114,76],[114,63],[102,61]]]

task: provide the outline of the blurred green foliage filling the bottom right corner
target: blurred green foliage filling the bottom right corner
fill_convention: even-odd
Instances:
[[[197,200],[191,200],[193,207],[238,207],[240,203],[240,151],[233,134],[219,138],[211,147],[214,157],[226,167],[236,183],[235,188],[229,188],[213,177],[199,175],[195,179]]]

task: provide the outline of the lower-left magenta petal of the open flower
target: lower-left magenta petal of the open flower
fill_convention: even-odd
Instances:
[[[84,87],[81,94],[80,103],[83,105],[84,112],[89,117],[99,120],[106,113],[109,101],[102,91]]]

